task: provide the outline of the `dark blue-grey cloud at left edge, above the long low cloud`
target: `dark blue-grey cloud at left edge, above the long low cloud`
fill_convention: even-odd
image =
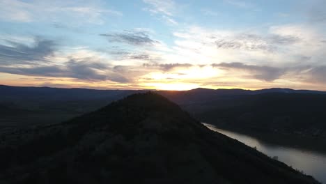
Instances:
[[[33,46],[7,41],[8,45],[0,45],[0,64],[24,64],[31,61],[47,61],[56,50],[53,40],[36,38]]]

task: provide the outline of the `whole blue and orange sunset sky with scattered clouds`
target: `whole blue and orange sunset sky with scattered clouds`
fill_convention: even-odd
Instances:
[[[326,0],[0,0],[0,84],[326,91]]]

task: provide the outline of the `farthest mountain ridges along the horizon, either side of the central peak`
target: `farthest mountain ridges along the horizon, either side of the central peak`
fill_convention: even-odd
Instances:
[[[20,87],[0,85],[1,100],[5,98],[45,98],[47,100],[93,100],[101,98],[122,98],[132,93],[139,93],[149,90],[97,90],[97,89],[59,89],[50,87]],[[171,91],[157,91],[158,93],[169,94]],[[294,90],[294,89],[192,89],[189,91],[173,91],[177,94],[201,95],[214,97],[216,95],[256,95],[261,93],[312,93],[326,94],[326,91]]]

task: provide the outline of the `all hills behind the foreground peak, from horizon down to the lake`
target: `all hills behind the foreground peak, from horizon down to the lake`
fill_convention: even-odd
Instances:
[[[0,135],[60,123],[127,95],[145,92],[0,86]],[[176,102],[200,121],[219,128],[263,136],[277,144],[291,138],[295,141],[288,145],[304,144],[302,146],[309,149],[326,151],[323,146],[326,144],[324,91],[193,89],[155,93]],[[282,136],[286,137],[279,138]],[[300,141],[296,141],[298,139]]]

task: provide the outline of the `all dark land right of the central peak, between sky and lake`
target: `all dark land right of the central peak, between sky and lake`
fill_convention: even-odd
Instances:
[[[326,95],[293,89],[159,91],[200,121],[275,144],[326,151]]]

